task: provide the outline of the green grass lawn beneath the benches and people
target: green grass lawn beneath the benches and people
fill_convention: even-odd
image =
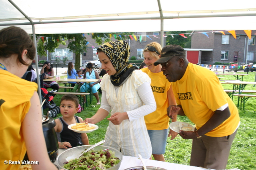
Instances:
[[[249,72],[249,76],[244,76],[243,81],[254,81],[256,72]],[[234,76],[224,76],[225,80],[234,80]],[[222,84],[224,89],[232,89],[233,85]],[[256,90],[256,87],[247,85],[245,90]],[[57,106],[60,105],[60,98],[62,95],[56,95],[54,102]],[[101,98],[101,95],[100,95]],[[235,104],[237,104],[237,97],[233,98]],[[241,170],[255,170],[256,169],[256,98],[249,98],[245,104],[245,111],[239,110],[240,115],[240,127],[232,144],[230,150],[230,156],[228,160],[227,168],[239,168]],[[93,96],[92,104],[88,104],[81,113],[76,113],[82,119],[86,117],[92,117],[96,113],[100,106],[96,105],[96,99]],[[45,109],[47,110],[47,109]],[[46,112],[46,111],[44,111]],[[58,114],[60,117],[61,114]],[[184,121],[193,124],[187,117],[178,116],[178,121]],[[97,123],[99,129],[88,133],[90,144],[97,143],[104,139],[106,128],[108,127],[108,120]],[[189,165],[190,153],[192,147],[192,140],[182,139],[179,135],[174,139],[167,139],[166,153],[164,158],[166,162],[172,162],[176,164]]]

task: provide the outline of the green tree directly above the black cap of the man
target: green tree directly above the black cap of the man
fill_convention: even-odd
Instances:
[[[166,37],[166,45],[176,44],[176,45],[180,45],[183,48],[191,48],[191,36],[189,36],[189,34],[185,34],[185,33],[191,33],[191,32],[192,31],[166,32],[166,35],[168,35],[168,37]],[[187,38],[184,38],[179,34],[184,34]]]

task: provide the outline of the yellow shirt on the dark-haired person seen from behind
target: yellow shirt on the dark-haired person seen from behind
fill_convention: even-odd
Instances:
[[[0,167],[1,170],[18,170],[19,164],[6,165],[4,160],[21,161],[24,158],[26,146],[21,125],[38,86],[5,70],[0,70],[0,82]]]

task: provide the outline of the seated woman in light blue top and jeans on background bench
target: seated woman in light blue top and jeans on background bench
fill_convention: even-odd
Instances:
[[[99,93],[98,93],[98,89],[100,88],[100,76],[99,73],[93,69],[93,64],[92,63],[88,63],[86,65],[86,71],[84,72],[84,78],[87,79],[98,79],[98,81],[96,82],[90,82],[88,83],[84,83],[81,87],[80,87],[80,92],[86,92],[88,89],[92,89],[92,94],[95,96],[96,100],[97,100],[97,105],[100,104],[100,98],[99,98]],[[85,100],[85,96],[84,96],[84,100]],[[86,102],[86,101],[85,101]]]

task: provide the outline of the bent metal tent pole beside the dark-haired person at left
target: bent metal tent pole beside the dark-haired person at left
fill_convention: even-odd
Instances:
[[[30,25],[32,25],[32,33],[33,33],[33,42],[36,48],[36,31],[35,31],[35,25],[33,24],[33,21],[14,3],[12,2],[12,0],[8,0],[22,15],[24,15],[24,17],[26,17],[26,19],[28,21],[30,21]],[[36,73],[37,73],[37,84],[38,84],[38,95],[39,95],[39,99],[40,99],[40,104],[42,104],[42,95],[41,95],[41,87],[40,87],[40,77],[39,77],[39,69],[38,69],[38,57],[37,57],[37,49],[36,49],[36,56],[35,56],[35,60],[36,60]],[[42,114],[43,113],[43,108],[42,109]]]

